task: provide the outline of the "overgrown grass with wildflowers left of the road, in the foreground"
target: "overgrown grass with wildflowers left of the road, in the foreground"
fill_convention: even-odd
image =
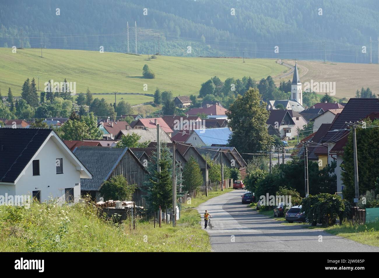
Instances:
[[[185,204],[177,227],[139,221],[114,225],[92,205],[33,203],[30,209],[0,206],[0,252],[210,252],[208,233],[194,206],[231,191],[211,192]]]

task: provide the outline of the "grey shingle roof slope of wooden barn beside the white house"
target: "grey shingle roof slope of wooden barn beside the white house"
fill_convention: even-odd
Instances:
[[[81,190],[98,191],[128,148],[88,147],[74,149],[74,154],[92,173],[92,179],[80,179]]]

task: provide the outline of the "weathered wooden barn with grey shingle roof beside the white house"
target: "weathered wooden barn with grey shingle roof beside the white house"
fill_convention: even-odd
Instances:
[[[122,175],[128,184],[137,186],[133,200],[141,200],[147,170],[129,148],[80,146],[74,149],[74,154],[92,173],[91,180],[81,179],[82,195],[89,194],[99,201],[103,183],[113,176]]]

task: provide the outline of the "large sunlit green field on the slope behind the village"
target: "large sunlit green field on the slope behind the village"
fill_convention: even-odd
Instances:
[[[0,48],[0,88],[6,95],[8,87],[14,96],[20,96],[25,79],[33,77],[39,89],[53,79],[55,82],[76,82],[76,92],[85,92],[87,87],[92,93],[150,93],[158,87],[161,91],[171,90],[174,96],[197,95],[200,85],[213,76],[222,81],[228,77],[242,78],[251,76],[257,81],[268,75],[276,76],[287,70],[274,59],[197,58],[157,56],[147,61],[147,55],[138,56],[123,53],[100,53],[99,51],[59,50],[25,48]],[[155,73],[155,79],[144,79],[144,64]],[[147,84],[147,91],[144,91]],[[94,95],[114,102],[114,95]],[[139,104],[152,101],[149,96],[117,95],[117,101]]]

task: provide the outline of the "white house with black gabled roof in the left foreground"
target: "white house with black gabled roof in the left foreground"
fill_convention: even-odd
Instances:
[[[0,129],[0,195],[31,195],[40,202],[80,199],[91,172],[52,129]]]

